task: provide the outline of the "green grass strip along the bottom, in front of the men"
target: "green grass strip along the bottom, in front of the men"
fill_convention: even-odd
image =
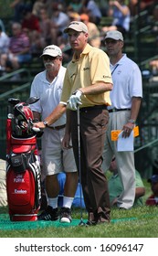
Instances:
[[[146,194],[151,195],[149,183],[144,181]],[[0,214],[7,213],[7,208],[0,208]],[[82,211],[83,219],[87,213]],[[79,208],[73,208],[73,219],[80,219]],[[111,208],[111,223],[93,227],[41,227],[40,229],[0,230],[1,238],[157,238],[158,237],[158,207],[132,208],[120,210]]]

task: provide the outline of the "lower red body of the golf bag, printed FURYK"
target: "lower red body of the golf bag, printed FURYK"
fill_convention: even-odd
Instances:
[[[41,203],[40,165],[34,153],[11,154],[6,173],[10,216],[37,214]],[[17,219],[16,219],[17,220]],[[28,218],[29,220],[29,218]],[[34,219],[36,220],[36,219]]]

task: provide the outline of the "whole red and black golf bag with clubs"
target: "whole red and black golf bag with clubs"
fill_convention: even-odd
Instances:
[[[6,122],[6,191],[12,221],[37,220],[41,203],[41,173],[37,153],[39,129],[33,128],[29,104],[8,99]],[[36,130],[36,131],[35,131]]]

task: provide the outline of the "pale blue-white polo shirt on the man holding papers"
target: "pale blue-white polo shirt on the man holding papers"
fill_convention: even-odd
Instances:
[[[110,93],[111,109],[131,109],[132,97],[142,98],[142,74],[138,65],[126,54],[111,65],[113,90]]]

